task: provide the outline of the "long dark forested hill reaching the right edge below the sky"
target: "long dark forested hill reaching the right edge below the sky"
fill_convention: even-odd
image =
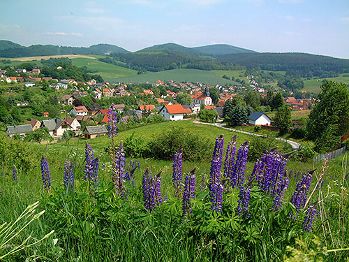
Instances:
[[[326,57],[306,53],[244,53],[227,54],[219,61],[230,62],[246,68],[270,71],[286,71],[288,75],[302,78],[314,76],[329,78],[349,72],[349,59]]]

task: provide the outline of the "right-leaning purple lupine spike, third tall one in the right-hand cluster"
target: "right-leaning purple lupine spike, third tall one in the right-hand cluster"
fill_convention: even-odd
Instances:
[[[233,167],[232,173],[230,173],[230,185],[232,188],[239,188],[245,182],[245,169],[248,155],[248,140],[240,145],[237,152],[237,160]]]

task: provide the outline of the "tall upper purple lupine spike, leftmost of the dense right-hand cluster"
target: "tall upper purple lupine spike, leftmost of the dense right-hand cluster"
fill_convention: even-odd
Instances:
[[[223,145],[224,138],[220,135],[216,138],[216,144],[214,146],[214,154],[211,160],[211,170],[209,173],[209,189],[214,183],[221,181],[221,166],[223,158]]]

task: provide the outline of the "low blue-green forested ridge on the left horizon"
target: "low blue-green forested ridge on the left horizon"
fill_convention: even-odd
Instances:
[[[129,51],[117,45],[98,44],[89,48],[77,48],[59,45],[30,45],[25,47],[10,41],[0,41],[0,57],[36,57],[57,54],[109,54]]]

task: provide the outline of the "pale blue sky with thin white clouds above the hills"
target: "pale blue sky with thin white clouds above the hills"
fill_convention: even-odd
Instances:
[[[21,45],[225,43],[349,59],[348,0],[1,0],[0,39]]]

